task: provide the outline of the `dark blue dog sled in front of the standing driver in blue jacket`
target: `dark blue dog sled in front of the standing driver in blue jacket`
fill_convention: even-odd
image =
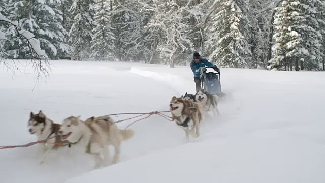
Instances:
[[[202,67],[199,69],[202,89],[220,98],[225,98],[226,94],[221,91],[220,71],[207,72],[207,69],[213,69],[213,67]]]

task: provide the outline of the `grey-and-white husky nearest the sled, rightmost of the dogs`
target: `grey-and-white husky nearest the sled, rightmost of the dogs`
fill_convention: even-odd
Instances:
[[[219,114],[218,110],[218,96],[215,94],[210,94],[208,92],[205,92],[204,90],[199,90],[195,94],[194,101],[200,103],[202,106],[204,106],[205,111],[211,111],[213,112],[213,116],[216,117],[217,114]]]

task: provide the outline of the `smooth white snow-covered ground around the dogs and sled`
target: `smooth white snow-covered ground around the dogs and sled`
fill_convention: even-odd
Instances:
[[[32,69],[0,73],[0,146],[36,140],[27,131],[30,111],[43,110],[57,123],[70,115],[165,111],[173,95],[195,88],[188,66],[51,64],[51,77],[34,91]],[[136,134],[122,144],[116,165],[91,171],[90,157],[67,149],[40,165],[37,145],[2,149],[0,182],[325,182],[325,73],[221,72],[222,90],[230,97],[219,103],[219,117],[202,124],[198,139],[186,143],[174,122],[151,116],[131,126]]]

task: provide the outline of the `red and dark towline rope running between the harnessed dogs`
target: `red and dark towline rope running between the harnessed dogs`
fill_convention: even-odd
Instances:
[[[146,118],[150,117],[153,114],[158,114],[159,116],[164,117],[165,119],[167,119],[169,121],[173,121],[174,120],[173,117],[170,117],[170,116],[168,116],[166,114],[163,114],[163,113],[166,113],[166,112],[170,112],[170,111],[152,111],[152,112],[145,112],[145,113],[141,113],[141,112],[116,113],[116,114],[108,114],[108,115],[104,115],[104,116],[125,115],[125,114],[140,114],[140,115],[137,115],[135,117],[129,117],[129,118],[121,119],[121,120],[118,120],[118,121],[115,121],[114,122],[114,123],[120,123],[122,121],[126,121],[126,120],[129,120],[129,119],[134,119],[134,118],[137,118],[137,117],[140,117],[140,116],[147,115],[146,117],[143,117],[143,118],[140,118],[140,119],[138,119],[136,121],[133,121],[131,124],[129,124],[128,126],[126,126],[124,128],[124,130],[125,130],[128,127],[132,126],[133,124],[137,123],[138,121],[143,120],[143,119],[146,119]],[[100,116],[100,117],[103,117],[103,116]],[[51,138],[55,138],[55,137],[56,136],[51,137]],[[30,143],[23,144],[23,145],[0,146],[0,149],[9,149],[9,148],[16,148],[16,147],[29,147],[29,146],[32,146],[32,145],[35,145],[35,144],[39,144],[39,143],[48,143],[48,144],[55,144],[55,145],[60,145],[60,146],[69,145],[69,144],[64,144],[64,143],[51,143],[51,142],[46,142],[48,139],[51,139],[51,138],[47,138],[47,139],[39,140],[39,141],[35,141],[35,142],[30,142]]]

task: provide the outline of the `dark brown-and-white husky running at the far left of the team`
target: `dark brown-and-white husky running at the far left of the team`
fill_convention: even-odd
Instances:
[[[57,153],[58,147],[63,147],[63,144],[67,144],[67,141],[63,141],[58,135],[58,130],[60,124],[53,123],[42,110],[39,113],[34,114],[30,112],[28,120],[29,133],[36,134],[38,141],[46,140],[45,143],[39,144],[39,152],[43,154],[40,157],[40,163],[44,163],[45,158],[47,158],[50,151],[54,154]]]

